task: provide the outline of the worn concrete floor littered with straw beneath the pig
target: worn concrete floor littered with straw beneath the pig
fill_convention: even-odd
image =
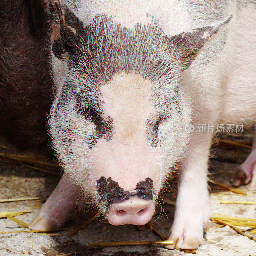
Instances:
[[[241,138],[240,138],[241,139]],[[252,136],[246,135],[246,140],[252,140]],[[239,140],[239,138],[238,138]],[[1,141],[0,141],[1,142]],[[1,144],[1,143],[0,143]],[[2,145],[2,144],[1,144]],[[2,149],[2,152],[12,152]],[[210,161],[210,173],[213,179],[224,182],[230,186],[230,180],[237,169],[249,154],[247,149],[239,148],[213,148]],[[6,163],[6,165],[3,165]],[[40,197],[45,200],[55,188],[60,176],[47,174],[41,171],[24,167],[18,162],[0,159],[0,199],[17,197]],[[211,186],[210,186],[211,187]],[[170,188],[175,191],[176,183],[170,182]],[[248,191],[247,196],[235,194],[220,189],[213,189],[210,194],[211,213],[226,214],[230,216],[256,218],[256,205],[244,204],[220,204],[220,199],[256,201],[256,192],[249,191],[249,186],[242,186]],[[175,193],[174,193],[175,194]],[[171,193],[164,195],[175,200]],[[32,209],[16,218],[29,223],[39,212],[42,201],[22,201],[0,203],[0,212],[20,211]],[[159,212],[159,209],[157,209]],[[153,225],[164,235],[167,235],[173,221],[174,206],[164,205],[165,214],[161,218],[158,215],[153,217],[156,220]],[[84,220],[71,220],[66,223],[65,228],[70,231],[81,225]],[[253,256],[256,255],[256,242],[245,236],[238,235],[233,229],[225,226],[222,228],[210,222],[210,229],[205,238],[196,250],[200,256]],[[2,218],[0,219],[1,231],[26,230],[15,222]],[[149,255],[192,255],[178,250],[167,250],[163,246],[133,246],[133,247],[109,247],[109,248],[88,248],[88,242],[100,241],[128,241],[128,240],[161,240],[151,230],[145,227],[139,230],[136,226],[111,226],[108,223],[94,221],[76,235],[68,236],[70,231],[57,232],[58,235],[40,235],[36,233],[8,233],[0,234],[0,256],[9,255],[35,255],[35,256],[56,256],[71,253],[73,256],[149,256]],[[256,235],[253,235],[256,237]]]

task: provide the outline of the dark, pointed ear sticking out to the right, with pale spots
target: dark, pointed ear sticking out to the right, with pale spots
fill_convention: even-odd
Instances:
[[[214,35],[220,27],[227,24],[232,17],[233,14],[217,26],[196,28],[175,36],[169,36],[168,40],[171,44],[171,50],[174,52],[174,55],[180,62],[183,70],[188,68],[192,61],[195,60],[197,53],[210,37]]]

